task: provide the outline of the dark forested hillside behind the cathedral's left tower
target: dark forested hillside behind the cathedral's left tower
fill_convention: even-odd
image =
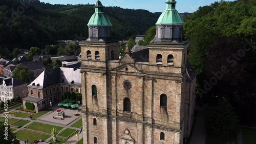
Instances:
[[[45,48],[55,40],[81,40],[88,37],[87,24],[94,13],[93,5],[51,5],[36,1],[24,6],[15,0],[0,1],[0,46]],[[104,4],[103,4],[104,5]],[[128,39],[154,26],[160,13],[147,10],[105,7],[113,24],[113,38]]]

